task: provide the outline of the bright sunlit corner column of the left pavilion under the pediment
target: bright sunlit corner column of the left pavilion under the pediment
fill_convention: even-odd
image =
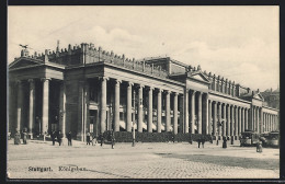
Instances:
[[[49,80],[47,78],[43,81],[43,117],[42,117],[42,134],[47,133],[48,129],[48,112],[49,112]]]

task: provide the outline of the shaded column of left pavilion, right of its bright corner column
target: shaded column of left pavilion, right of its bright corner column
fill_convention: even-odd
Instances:
[[[66,136],[66,84],[64,81],[60,85],[59,108],[59,127],[61,134]]]

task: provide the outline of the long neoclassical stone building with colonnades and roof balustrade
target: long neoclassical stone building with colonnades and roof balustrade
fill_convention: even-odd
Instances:
[[[9,131],[205,134],[235,139],[278,130],[278,110],[261,93],[170,57],[128,59],[93,44],[45,54],[27,49],[9,65]]]

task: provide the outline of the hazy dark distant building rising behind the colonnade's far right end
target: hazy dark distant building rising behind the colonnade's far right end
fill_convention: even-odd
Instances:
[[[280,88],[272,91],[267,89],[264,92],[261,92],[264,97],[264,103],[266,106],[280,110]]]

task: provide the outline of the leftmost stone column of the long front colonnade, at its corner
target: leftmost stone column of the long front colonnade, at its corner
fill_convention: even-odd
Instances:
[[[101,112],[100,112],[100,120],[101,120],[101,133],[103,134],[106,130],[106,81],[107,78],[103,77],[101,79]]]

